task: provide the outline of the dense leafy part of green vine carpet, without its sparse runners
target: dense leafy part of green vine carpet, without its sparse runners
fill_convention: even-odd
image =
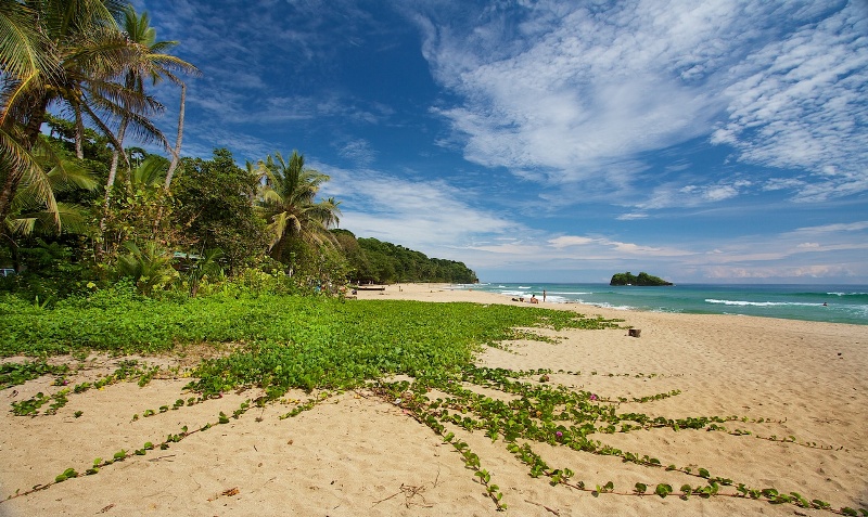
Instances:
[[[569,311],[514,306],[346,301],[230,292],[179,301],[131,289],[69,298],[52,309],[0,301],[0,356],[166,350],[178,344],[246,344],[204,363],[196,388],[349,386],[390,373],[451,371],[514,327],[604,327]]]

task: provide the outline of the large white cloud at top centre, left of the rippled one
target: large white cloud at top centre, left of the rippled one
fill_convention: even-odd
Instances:
[[[540,2],[529,16],[556,7],[562,8]],[[459,46],[451,38],[461,35],[429,28],[426,55],[437,77],[467,99],[438,112],[467,137],[465,156],[486,166],[541,168],[551,181],[618,182],[642,166],[615,167],[621,170],[612,177],[613,165],[701,134],[723,106],[681,81],[677,69],[693,68],[678,60],[709,24],[695,24],[704,15],[687,4],[651,12],[644,7],[613,9],[607,13],[611,24],[574,9],[526,48],[499,41],[518,48],[507,56]],[[695,16],[665,21],[676,34],[655,23],[654,15],[679,9]]]

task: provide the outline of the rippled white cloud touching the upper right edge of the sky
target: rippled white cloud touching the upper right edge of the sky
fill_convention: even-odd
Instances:
[[[810,172],[767,190],[797,189],[806,202],[868,190],[868,18],[853,3],[732,69],[729,120],[712,142],[735,146],[745,163]]]

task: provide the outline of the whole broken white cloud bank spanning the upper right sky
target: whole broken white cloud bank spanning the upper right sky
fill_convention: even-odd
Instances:
[[[455,8],[425,5],[414,13],[423,53],[462,99],[436,113],[472,161],[620,194],[646,167],[643,153],[702,137],[744,163],[796,169],[797,180],[766,188],[800,183],[797,199],[868,190],[868,30],[853,4],[542,0],[473,12],[462,3],[463,26],[445,23]],[[671,206],[661,196],[642,208]]]

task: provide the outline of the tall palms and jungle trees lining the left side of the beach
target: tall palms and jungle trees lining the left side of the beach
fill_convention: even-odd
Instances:
[[[0,289],[53,303],[122,279],[149,296],[258,273],[310,292],[475,281],[462,263],[337,231],[341,202],[320,196],[330,178],[297,151],[245,167],[226,148],[182,157],[186,81],[200,72],[129,2],[3,0],[0,41],[0,266],[20,273]],[[164,81],[180,90],[174,143],[154,124],[157,92],[178,91]]]

